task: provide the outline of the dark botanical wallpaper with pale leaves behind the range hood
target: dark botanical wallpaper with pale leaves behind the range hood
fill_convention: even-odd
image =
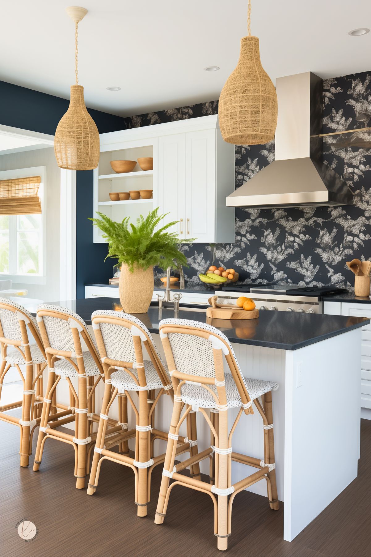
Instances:
[[[323,133],[370,125],[371,72],[323,81]],[[217,113],[217,101],[132,116],[127,127],[160,124]],[[371,133],[324,138],[323,160],[354,192],[355,206],[240,209],[235,212],[235,243],[184,246],[188,284],[212,263],[233,267],[240,282],[300,286],[354,285],[345,261],[371,261]],[[236,188],[274,160],[274,141],[236,145]],[[162,273],[161,275],[162,276]]]

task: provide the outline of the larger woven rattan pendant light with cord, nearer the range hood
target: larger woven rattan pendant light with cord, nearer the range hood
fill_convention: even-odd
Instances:
[[[219,98],[219,125],[222,138],[235,145],[268,143],[277,124],[277,95],[260,62],[259,38],[250,32],[241,38],[240,58],[226,80]]]

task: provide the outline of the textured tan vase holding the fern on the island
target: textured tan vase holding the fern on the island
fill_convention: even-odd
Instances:
[[[131,273],[127,265],[122,264],[118,293],[123,311],[126,313],[146,313],[154,294],[154,268],[146,271],[134,266]]]

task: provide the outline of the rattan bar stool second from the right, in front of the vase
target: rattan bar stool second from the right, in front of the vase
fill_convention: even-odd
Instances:
[[[170,374],[149,330],[136,317],[117,311],[95,311],[92,314],[92,326],[105,370],[106,385],[87,492],[93,495],[96,491],[103,460],[128,466],[135,475],[137,515],[146,516],[152,470],[165,459],[165,455],[154,456],[154,441],[167,441],[168,437],[167,433],[154,427],[155,408],[162,394],[173,394]],[[150,360],[144,360],[142,344]],[[133,402],[132,392],[138,395],[137,405]],[[121,400],[128,399],[136,416],[135,429],[129,429],[128,423],[122,424],[127,430],[125,439],[135,438],[134,458],[110,450],[115,440],[107,438],[106,424],[108,411],[116,396]],[[187,437],[172,436],[172,439],[177,455],[190,452],[197,457],[195,420],[187,421]],[[192,472],[200,478],[198,464]]]

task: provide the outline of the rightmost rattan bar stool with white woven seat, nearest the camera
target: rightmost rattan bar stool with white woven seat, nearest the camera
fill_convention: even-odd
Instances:
[[[278,383],[247,379],[243,376],[229,340],[218,329],[198,321],[185,319],[164,319],[160,321],[160,336],[164,345],[174,387],[174,409],[171,418],[169,440],[167,442],[164,470],[159,502],[155,517],[156,524],[162,524],[172,488],[176,485],[191,487],[208,494],[214,503],[214,534],[217,548],[227,549],[227,539],[231,535],[231,514],[234,497],[246,487],[259,480],[266,480],[268,500],[271,509],[278,509],[278,495],[275,479],[273,414],[271,391],[278,389]],[[224,373],[224,357],[231,373]],[[259,402],[261,397],[261,402]],[[262,418],[264,435],[264,458],[253,458],[233,452],[232,436],[241,414],[253,414],[253,403]],[[186,411],[181,417],[182,406]],[[196,459],[190,458],[175,466],[174,437],[185,414],[190,408],[200,412],[215,439],[214,446],[199,452]],[[217,420],[210,419],[217,412]],[[228,432],[228,410],[239,408],[233,426]],[[179,472],[191,463],[215,456],[215,484],[181,475]],[[232,461],[257,468],[252,475],[234,484],[231,483]],[[214,473],[213,473],[214,475]],[[170,478],[175,482],[169,486]],[[228,501],[228,496],[230,499]],[[217,499],[216,499],[217,496]]]

